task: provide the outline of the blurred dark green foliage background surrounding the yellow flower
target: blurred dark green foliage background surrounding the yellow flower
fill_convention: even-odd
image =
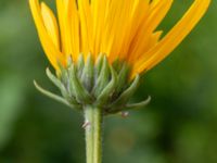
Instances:
[[[52,2],[50,0],[50,2]],[[167,32],[189,7],[176,1]],[[85,163],[82,116],[41,96],[53,91],[27,0],[0,0],[0,163]],[[104,163],[217,163],[217,2],[191,35],[143,77],[133,101],[105,120]]]

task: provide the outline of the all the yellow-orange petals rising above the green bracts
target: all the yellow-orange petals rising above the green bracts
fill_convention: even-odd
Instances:
[[[56,0],[58,21],[44,2],[29,0],[43,50],[54,66],[76,62],[82,53],[94,60],[105,53],[110,63],[131,66],[131,78],[167,57],[192,30],[210,0],[194,0],[174,28],[161,38],[156,27],[173,0]]]

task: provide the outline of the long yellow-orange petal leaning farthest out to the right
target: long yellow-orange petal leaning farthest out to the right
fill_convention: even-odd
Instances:
[[[149,71],[166,58],[192,30],[206,12],[210,0],[194,0],[189,11],[175,25],[175,27],[148,53],[139,59],[133,67],[132,76],[143,71]],[[146,55],[150,58],[146,59]]]

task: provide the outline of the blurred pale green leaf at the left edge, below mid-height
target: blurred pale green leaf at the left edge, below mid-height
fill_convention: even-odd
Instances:
[[[23,84],[18,77],[5,77],[0,80],[0,150],[10,140],[14,123],[23,104]]]

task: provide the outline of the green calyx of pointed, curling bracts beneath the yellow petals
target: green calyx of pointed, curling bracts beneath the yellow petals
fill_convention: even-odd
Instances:
[[[145,106],[151,100],[149,97],[142,102],[129,104],[139,86],[140,76],[129,82],[130,67],[120,61],[111,65],[105,54],[99,55],[95,63],[91,54],[86,62],[80,54],[77,63],[68,59],[67,67],[60,67],[61,75],[55,76],[47,68],[47,76],[62,96],[41,88],[36,82],[35,86],[43,95],[78,111],[94,105],[101,108],[104,115],[116,114]]]

